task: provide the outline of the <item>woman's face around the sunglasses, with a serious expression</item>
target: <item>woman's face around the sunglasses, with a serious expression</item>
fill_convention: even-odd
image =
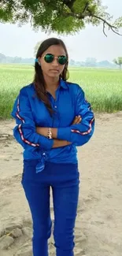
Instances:
[[[61,55],[66,56],[63,46],[60,46],[60,45],[50,46],[45,52],[43,52],[43,55],[39,57],[39,63],[43,70],[43,75],[50,76],[50,77],[60,76],[60,74],[65,69],[65,65],[59,64],[56,58],[54,58],[54,61],[52,61],[51,63],[46,63],[46,61],[44,60],[44,56],[46,54],[53,54],[54,57],[56,58]]]

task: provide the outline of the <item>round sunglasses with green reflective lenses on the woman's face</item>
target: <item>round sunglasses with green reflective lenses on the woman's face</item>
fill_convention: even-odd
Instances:
[[[54,57],[54,54],[46,54],[43,58],[46,63],[51,63],[54,61],[54,59],[57,59],[57,62],[61,65],[65,65],[68,61],[68,58],[65,55]]]

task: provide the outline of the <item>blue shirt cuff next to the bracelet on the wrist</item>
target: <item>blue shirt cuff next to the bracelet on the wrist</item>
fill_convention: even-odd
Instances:
[[[71,128],[57,128],[57,139],[63,139],[70,142],[71,139]]]

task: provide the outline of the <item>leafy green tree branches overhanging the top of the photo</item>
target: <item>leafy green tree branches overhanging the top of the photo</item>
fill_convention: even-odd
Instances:
[[[0,22],[25,24],[46,32],[74,34],[86,24],[105,27],[119,34],[122,17],[115,20],[106,12],[101,0],[1,0]],[[107,35],[106,35],[107,36]]]

